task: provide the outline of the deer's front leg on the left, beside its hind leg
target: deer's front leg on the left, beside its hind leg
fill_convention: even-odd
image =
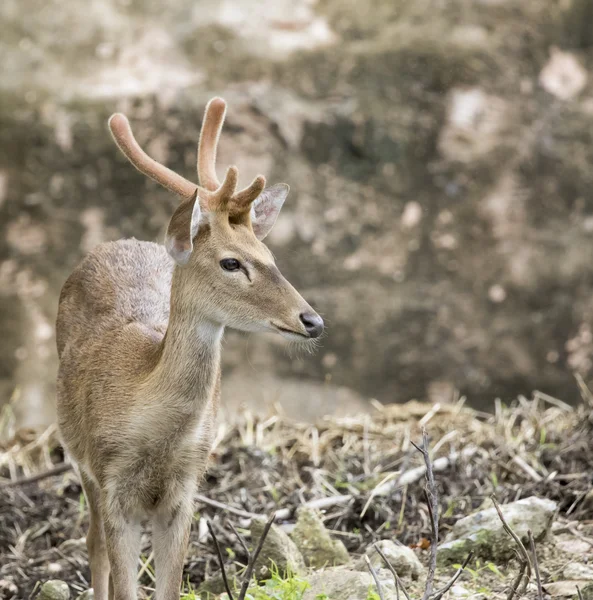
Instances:
[[[103,507],[103,522],[111,572],[109,600],[137,600],[140,522],[127,518],[114,503]]]

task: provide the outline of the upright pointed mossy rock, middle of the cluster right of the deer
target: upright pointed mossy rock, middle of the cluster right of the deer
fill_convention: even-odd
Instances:
[[[296,527],[290,537],[309,567],[320,569],[350,562],[346,546],[332,539],[319,512],[314,509],[303,506],[298,510]]]

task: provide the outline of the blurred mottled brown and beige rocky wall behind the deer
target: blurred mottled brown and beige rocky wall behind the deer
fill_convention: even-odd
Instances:
[[[212,95],[219,164],[291,185],[269,245],[328,323],[312,357],[229,334],[227,398],[570,400],[593,380],[591,23],[592,0],[3,0],[0,404],[51,419],[63,281],[177,202],[108,116],[195,178]]]

